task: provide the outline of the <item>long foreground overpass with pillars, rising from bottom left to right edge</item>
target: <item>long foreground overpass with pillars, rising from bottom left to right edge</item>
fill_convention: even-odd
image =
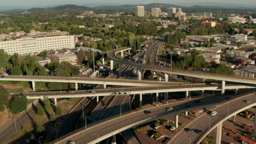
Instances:
[[[129,112],[129,113],[120,113],[120,115],[103,119],[102,121],[91,124],[86,128],[84,127],[84,128],[75,130],[72,133],[62,136],[59,139],[56,139],[50,143],[66,143],[69,140],[75,141],[75,143],[97,143],[104,139],[107,139],[108,137],[112,137],[112,142],[115,143],[115,135],[126,129],[130,129],[138,125],[148,123],[156,119],[164,118],[170,115],[176,115],[175,123],[177,127],[178,113],[195,110],[195,109],[202,109],[202,108],[210,107],[214,105],[220,105],[220,106],[217,106],[217,108],[219,108],[226,103],[234,104],[236,102],[240,102],[241,100],[248,99],[248,98],[252,100],[252,104],[249,106],[256,104],[255,103],[256,95],[255,93],[251,93],[246,95],[237,95],[236,98],[231,98],[230,100],[229,99],[225,100],[224,97],[220,96],[218,98],[217,97],[201,98],[200,103],[195,103],[194,99],[176,101],[171,104],[152,107],[148,109],[152,111],[149,114],[144,114],[143,110],[136,111],[136,112]],[[230,102],[226,102],[226,101],[230,101]],[[173,107],[173,110],[166,111],[165,108],[170,106]],[[240,107],[245,107],[245,105],[240,105]],[[233,108],[230,108],[230,112],[231,110],[233,110]],[[183,140],[184,140],[184,137],[183,137]],[[178,142],[178,143],[181,143],[181,142]]]

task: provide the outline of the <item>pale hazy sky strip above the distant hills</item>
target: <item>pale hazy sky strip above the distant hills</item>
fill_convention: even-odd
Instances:
[[[39,7],[44,5],[54,4],[90,4],[90,3],[117,3],[117,4],[149,4],[149,3],[168,3],[177,5],[203,5],[202,3],[236,3],[236,4],[253,4],[256,5],[255,0],[0,0],[0,7]],[[221,6],[221,5],[219,5]]]

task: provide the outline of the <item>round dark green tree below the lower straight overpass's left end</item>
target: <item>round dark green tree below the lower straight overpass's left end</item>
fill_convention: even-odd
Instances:
[[[25,111],[27,109],[27,103],[28,100],[24,94],[20,97],[14,97],[14,99],[10,101],[10,110],[13,113]]]

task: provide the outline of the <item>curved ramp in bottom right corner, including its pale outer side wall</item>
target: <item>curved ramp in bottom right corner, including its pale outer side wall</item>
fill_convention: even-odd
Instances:
[[[250,103],[245,103],[245,100],[250,100]],[[194,121],[186,125],[186,128],[193,129],[193,132],[188,133],[184,129],[179,131],[170,141],[166,143],[200,143],[202,139],[208,135],[214,128],[216,128],[220,123],[226,121],[230,117],[249,109],[256,105],[256,93],[246,94],[243,97],[238,97],[227,101],[226,103],[220,104],[214,107],[211,111],[217,111],[216,116],[211,116],[208,113],[204,113],[200,117],[197,117]],[[210,125],[210,126],[209,126]],[[196,130],[202,130],[202,134],[197,134]],[[188,137],[188,139],[184,139]]]

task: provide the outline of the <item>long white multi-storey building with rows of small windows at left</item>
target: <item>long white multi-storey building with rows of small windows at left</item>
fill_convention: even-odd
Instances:
[[[32,55],[42,51],[74,49],[73,35],[59,35],[54,37],[21,38],[9,41],[0,41],[0,49],[9,55]]]

